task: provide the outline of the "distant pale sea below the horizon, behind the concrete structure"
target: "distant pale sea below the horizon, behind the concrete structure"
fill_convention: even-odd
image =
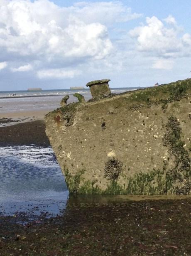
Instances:
[[[136,90],[139,87],[111,88],[113,94]],[[87,101],[91,98],[89,89],[84,90],[42,90],[42,91],[0,91],[0,113],[15,113],[17,111],[43,111],[47,112],[59,108],[60,101],[69,95],[67,103],[76,102],[78,99],[73,94],[82,94]],[[16,95],[15,95],[16,94]]]

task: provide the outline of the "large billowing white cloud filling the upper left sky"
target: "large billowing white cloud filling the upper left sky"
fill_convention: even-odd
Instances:
[[[97,11],[98,6],[97,3]],[[61,8],[48,0],[2,2],[0,47],[18,55],[49,60],[104,58],[112,50],[107,28],[99,22],[86,22],[83,8]]]

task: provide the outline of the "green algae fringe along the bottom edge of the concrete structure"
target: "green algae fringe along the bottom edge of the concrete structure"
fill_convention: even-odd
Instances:
[[[166,179],[164,171],[152,170],[147,173],[135,174],[128,179],[124,185],[118,181],[110,181],[105,190],[100,190],[93,181],[83,182],[82,174],[78,172],[72,176],[68,171],[65,172],[66,184],[69,191],[73,194],[109,194],[109,195],[162,195],[167,194]]]

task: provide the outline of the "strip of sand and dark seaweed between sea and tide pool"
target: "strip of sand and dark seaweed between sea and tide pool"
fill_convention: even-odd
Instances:
[[[49,146],[44,116],[48,110],[0,113],[0,146]]]

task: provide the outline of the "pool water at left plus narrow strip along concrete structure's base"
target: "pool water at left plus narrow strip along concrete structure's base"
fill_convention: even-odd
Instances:
[[[0,215],[16,222],[54,217],[90,207],[149,207],[147,199],[182,199],[179,195],[70,195],[50,147],[0,147]],[[147,200],[147,202],[142,202]],[[147,204],[147,205],[146,205]],[[100,208],[100,209],[101,209]],[[124,208],[122,208],[124,209]],[[71,211],[70,211],[71,210]],[[17,218],[18,217],[18,218]]]

